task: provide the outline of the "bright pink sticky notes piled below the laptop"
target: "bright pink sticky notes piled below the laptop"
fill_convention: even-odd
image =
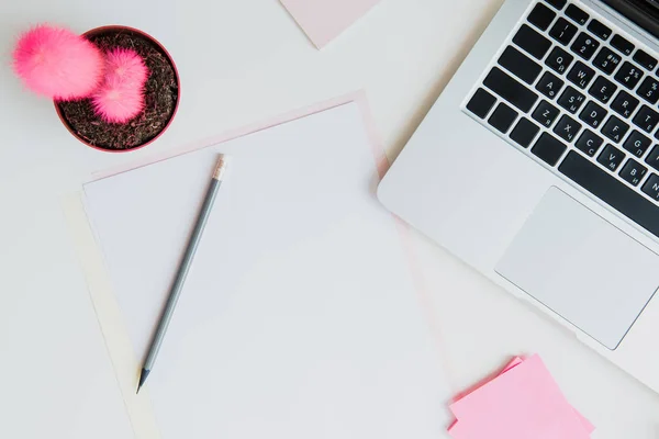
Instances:
[[[538,356],[515,359],[495,380],[454,403],[456,439],[588,439],[584,424],[569,405]]]

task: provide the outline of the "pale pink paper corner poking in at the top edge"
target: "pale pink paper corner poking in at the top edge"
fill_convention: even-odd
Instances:
[[[380,0],[281,0],[312,43],[322,48]]]

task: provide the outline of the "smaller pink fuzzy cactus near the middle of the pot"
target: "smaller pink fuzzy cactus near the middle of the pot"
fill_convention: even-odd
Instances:
[[[135,50],[116,48],[105,54],[105,74],[92,95],[97,114],[110,123],[126,123],[144,109],[148,69]]]

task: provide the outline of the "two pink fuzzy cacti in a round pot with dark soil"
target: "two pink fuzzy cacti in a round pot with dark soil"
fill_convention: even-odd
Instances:
[[[83,35],[37,25],[19,38],[13,68],[27,89],[49,98],[65,127],[104,151],[129,151],[159,137],[180,98],[167,50],[149,35],[104,26]]]

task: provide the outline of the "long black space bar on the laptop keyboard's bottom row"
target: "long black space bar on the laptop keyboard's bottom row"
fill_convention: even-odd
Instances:
[[[659,237],[659,206],[597,165],[577,151],[570,151],[558,170],[604,203]]]

